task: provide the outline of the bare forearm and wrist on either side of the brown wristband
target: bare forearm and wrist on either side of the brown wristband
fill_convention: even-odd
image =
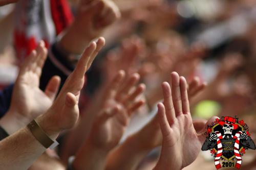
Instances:
[[[56,139],[58,132],[48,131],[42,118],[37,121],[52,139]],[[27,127],[22,128],[0,142],[0,169],[28,169],[45,150]]]

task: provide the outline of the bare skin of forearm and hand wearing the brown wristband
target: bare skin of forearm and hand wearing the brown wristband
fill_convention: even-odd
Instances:
[[[99,38],[86,48],[53,105],[36,118],[42,130],[52,139],[56,139],[61,130],[75,125],[79,116],[78,98],[84,84],[84,74],[103,45],[104,38]],[[27,128],[22,128],[0,142],[0,169],[28,169],[45,150]]]

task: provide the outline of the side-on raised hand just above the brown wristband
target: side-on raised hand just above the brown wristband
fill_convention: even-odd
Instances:
[[[86,48],[76,68],[61,88],[53,105],[44,115],[37,117],[40,122],[46,124],[46,131],[57,132],[70,129],[77,122],[79,116],[78,99],[84,84],[84,74],[90,68],[104,43],[104,38],[99,38],[97,42],[92,42]],[[52,135],[56,137],[58,134]]]

